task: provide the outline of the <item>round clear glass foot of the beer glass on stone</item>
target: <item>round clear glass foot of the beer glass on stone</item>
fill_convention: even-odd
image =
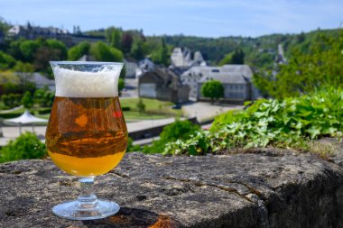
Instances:
[[[95,204],[80,204],[78,200],[52,207],[53,214],[71,220],[93,220],[116,214],[120,206],[115,202],[98,200]]]

